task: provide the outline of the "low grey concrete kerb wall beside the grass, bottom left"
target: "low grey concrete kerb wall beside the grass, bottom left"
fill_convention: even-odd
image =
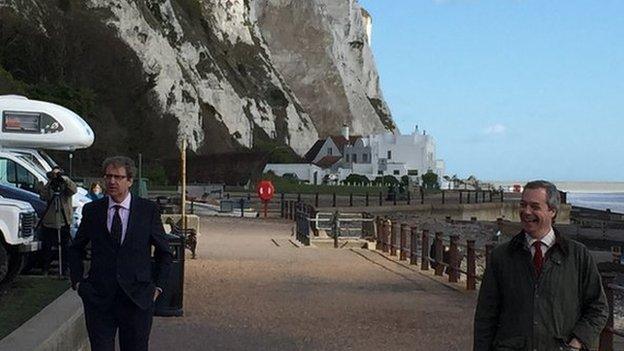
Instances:
[[[89,351],[82,301],[68,290],[0,340],[2,351]]]

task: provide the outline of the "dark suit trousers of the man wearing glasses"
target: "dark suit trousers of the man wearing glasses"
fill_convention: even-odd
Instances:
[[[115,351],[117,331],[121,351],[148,350],[154,305],[142,310],[118,288],[113,306],[102,309],[84,301],[84,310],[91,351]]]

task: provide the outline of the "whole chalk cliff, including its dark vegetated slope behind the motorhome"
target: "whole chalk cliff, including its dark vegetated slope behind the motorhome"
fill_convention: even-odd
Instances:
[[[181,139],[303,155],[345,122],[394,129],[363,18],[355,0],[0,0],[0,93],[83,115],[86,163]]]

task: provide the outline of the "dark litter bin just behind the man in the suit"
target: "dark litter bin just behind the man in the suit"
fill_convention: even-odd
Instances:
[[[184,297],[184,236],[165,234],[169,241],[169,248],[173,252],[171,270],[167,285],[156,300],[154,315],[160,317],[180,317],[184,314],[182,302]],[[152,259],[152,272],[155,272],[155,262]]]

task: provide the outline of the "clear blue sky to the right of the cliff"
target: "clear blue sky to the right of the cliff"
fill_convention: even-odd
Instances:
[[[359,2],[394,120],[447,174],[624,181],[624,1]]]

